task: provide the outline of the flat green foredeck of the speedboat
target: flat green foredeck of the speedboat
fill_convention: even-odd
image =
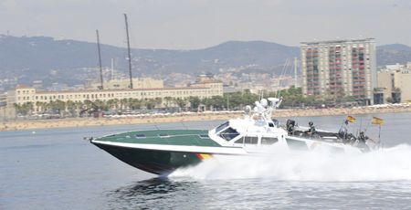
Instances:
[[[97,140],[105,142],[168,144],[186,146],[221,146],[208,138],[208,131],[206,130],[132,131],[101,137]]]

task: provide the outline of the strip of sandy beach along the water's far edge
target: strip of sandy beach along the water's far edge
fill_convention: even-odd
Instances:
[[[329,109],[306,109],[306,110],[276,110],[276,118],[291,117],[317,117],[336,115],[357,115],[376,113],[398,113],[411,112],[411,104],[401,106],[369,106],[354,108],[329,108]],[[238,111],[205,111],[205,112],[182,112],[174,114],[153,114],[137,115],[125,117],[107,118],[67,118],[56,120],[22,120],[0,122],[0,131],[23,131],[52,128],[76,128],[91,126],[110,126],[145,123],[164,123],[178,121],[218,121],[238,118],[243,115],[242,110]]]

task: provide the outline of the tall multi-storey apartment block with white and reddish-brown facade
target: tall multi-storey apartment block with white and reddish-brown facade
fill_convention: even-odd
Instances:
[[[373,103],[376,87],[374,38],[300,43],[302,92],[305,96]]]

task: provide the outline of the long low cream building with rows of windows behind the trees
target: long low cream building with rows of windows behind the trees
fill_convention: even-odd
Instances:
[[[223,96],[223,83],[216,79],[199,79],[194,84],[183,88],[147,88],[147,89],[76,89],[44,91],[25,85],[17,85],[16,89],[7,91],[6,103],[9,109],[14,105],[31,103],[34,111],[42,111],[41,103],[61,100],[64,102],[84,102],[86,100],[108,101],[122,99],[150,100],[162,99],[165,105],[167,99],[198,97],[200,99]],[[16,110],[14,111],[16,114]],[[13,117],[10,116],[9,117]]]

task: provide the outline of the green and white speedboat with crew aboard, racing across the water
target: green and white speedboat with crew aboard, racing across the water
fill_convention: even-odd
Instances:
[[[292,131],[289,131],[289,123],[289,129],[281,127],[279,121],[271,119],[281,100],[256,101],[253,109],[246,107],[244,117],[225,121],[210,131],[129,131],[89,140],[124,163],[162,176],[209,158],[227,155],[270,155],[279,151],[321,149],[364,152],[364,148],[344,142],[339,133],[310,135],[298,131],[295,124]]]

